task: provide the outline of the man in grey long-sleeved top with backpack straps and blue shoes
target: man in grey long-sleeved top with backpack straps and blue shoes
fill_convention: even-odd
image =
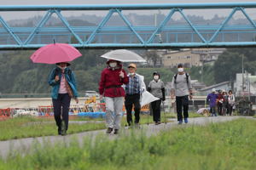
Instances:
[[[189,74],[184,72],[183,64],[177,65],[177,74],[172,78],[172,99],[176,96],[177,122],[188,123],[189,117],[189,99],[193,98],[193,91]]]

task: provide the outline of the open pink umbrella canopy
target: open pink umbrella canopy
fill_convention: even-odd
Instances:
[[[67,43],[51,43],[35,51],[30,59],[34,63],[55,64],[80,57],[79,50]]]

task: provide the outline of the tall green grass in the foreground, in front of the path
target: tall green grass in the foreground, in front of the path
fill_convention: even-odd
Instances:
[[[208,126],[172,128],[146,137],[143,130],[109,140],[105,135],[71,144],[34,144],[12,154],[0,169],[256,169],[256,121],[239,119]]]

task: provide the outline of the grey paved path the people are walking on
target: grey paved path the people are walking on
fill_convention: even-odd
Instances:
[[[217,116],[217,117],[198,117],[198,118],[190,118],[188,124],[177,125],[176,119],[171,119],[173,122],[162,123],[160,125],[142,125],[141,129],[146,133],[147,136],[154,135],[160,133],[160,131],[164,131],[167,129],[171,129],[172,127],[177,126],[191,126],[191,125],[206,125],[208,123],[214,122],[227,122],[232,121],[242,116]],[[248,117],[247,118],[252,118]],[[256,120],[256,119],[254,119]],[[14,150],[19,150],[22,153],[22,150],[29,150],[33,143],[39,142],[43,144],[45,141],[51,144],[55,144],[56,142],[67,142],[69,143],[73,138],[79,139],[79,142],[82,143],[84,137],[95,138],[98,134],[104,134],[104,130],[96,130],[84,133],[75,133],[67,136],[47,136],[47,137],[38,137],[38,138],[26,138],[26,139],[12,139],[6,141],[0,141],[0,156],[5,158]],[[124,128],[120,133],[129,133],[129,129],[127,127]],[[115,139],[118,135],[110,134],[109,139]]]

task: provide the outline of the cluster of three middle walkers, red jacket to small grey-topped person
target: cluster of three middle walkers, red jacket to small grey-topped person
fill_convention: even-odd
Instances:
[[[106,133],[119,133],[120,121],[125,98],[126,121],[128,126],[139,126],[141,99],[146,90],[144,77],[136,73],[137,65],[128,65],[126,74],[117,60],[109,59],[107,68],[102,71],[99,83],[100,99],[106,102]],[[159,98],[151,103],[155,124],[160,124],[160,104],[165,100],[165,85],[158,72],[153,73],[153,80],[148,84],[148,91]],[[132,110],[135,119],[132,118]]]

